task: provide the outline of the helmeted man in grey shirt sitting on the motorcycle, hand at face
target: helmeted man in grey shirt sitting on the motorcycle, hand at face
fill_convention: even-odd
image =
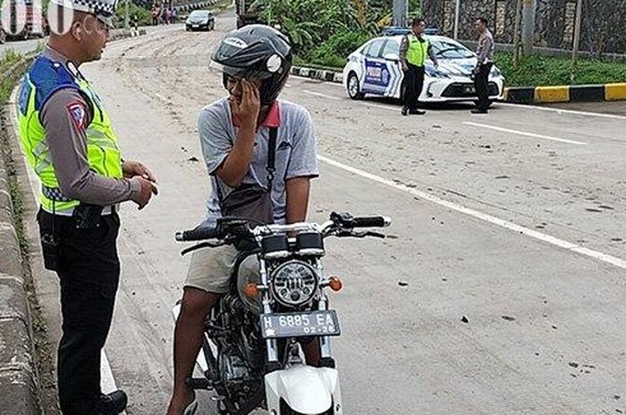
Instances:
[[[244,26],[221,41],[212,60],[224,72],[229,97],[199,115],[200,144],[212,185],[205,225],[222,215],[220,200],[233,189],[267,187],[270,129],[277,129],[271,186],[274,220],[306,220],[309,180],[318,175],[316,137],[307,110],[277,99],[292,66],[287,38],[267,26]],[[196,251],[191,257],[174,331],[174,386],[167,415],[190,415],[198,407],[185,379],[199,353],[202,323],[220,296],[228,293],[236,254],[234,247],[223,246]]]

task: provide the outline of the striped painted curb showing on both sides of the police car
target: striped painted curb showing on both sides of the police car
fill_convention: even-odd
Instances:
[[[293,66],[292,75],[343,83],[343,74]],[[505,87],[504,102],[512,104],[546,104],[626,100],[626,83],[605,85],[567,85],[559,87]]]

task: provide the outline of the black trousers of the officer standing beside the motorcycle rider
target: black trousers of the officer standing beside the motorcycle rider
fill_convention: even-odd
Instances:
[[[53,233],[53,219],[63,314],[57,365],[61,411],[94,415],[101,395],[100,351],[111,327],[120,278],[120,219],[114,212],[102,215],[95,228],[77,228],[72,217],[40,210],[40,235]],[[42,248],[49,249],[45,244]]]

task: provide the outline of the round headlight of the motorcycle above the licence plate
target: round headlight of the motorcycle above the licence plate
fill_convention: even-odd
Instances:
[[[288,261],[272,272],[272,292],[275,299],[287,306],[309,303],[316,294],[317,272],[303,261]]]

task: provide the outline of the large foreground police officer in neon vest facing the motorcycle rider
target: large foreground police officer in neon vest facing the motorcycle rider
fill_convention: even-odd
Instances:
[[[21,145],[41,181],[39,232],[45,266],[61,286],[58,350],[64,415],[114,415],[123,391],[100,389],[100,351],[111,326],[120,262],[118,204],[143,208],[157,194],[140,162],[123,161],[111,119],[80,66],[100,59],[115,0],[52,0],[47,46],[24,76],[19,95]],[[68,19],[68,17],[70,17]]]

